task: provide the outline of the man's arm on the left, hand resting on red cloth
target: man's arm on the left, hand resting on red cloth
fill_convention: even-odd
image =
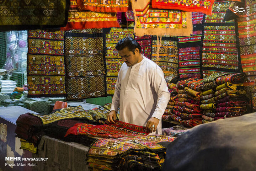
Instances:
[[[115,92],[114,92],[114,96],[112,98],[110,113],[107,116],[108,123],[110,123],[110,122],[114,123],[114,120],[116,120],[116,113],[119,108],[120,90],[121,90],[121,84],[120,84],[120,78],[119,78],[119,74],[118,74],[117,82],[116,82],[116,86],[115,86]]]

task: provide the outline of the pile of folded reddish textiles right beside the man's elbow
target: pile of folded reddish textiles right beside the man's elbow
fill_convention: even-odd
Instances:
[[[162,116],[163,120],[180,122],[180,124],[186,127],[193,127],[202,123],[202,111],[200,110],[199,105],[188,102],[188,96],[190,96],[188,91],[192,92],[194,90],[188,88],[187,83],[196,79],[197,78],[189,78],[178,81],[177,85],[168,83],[169,89],[175,91],[177,95],[171,96],[165,113]],[[198,96],[199,93],[196,93],[196,95]]]

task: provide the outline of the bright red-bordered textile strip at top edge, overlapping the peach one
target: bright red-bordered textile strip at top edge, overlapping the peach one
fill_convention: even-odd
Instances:
[[[153,8],[170,9],[170,10],[182,10],[188,12],[203,12],[204,14],[212,14],[212,5],[214,0],[203,1],[169,1],[169,0],[152,0]]]

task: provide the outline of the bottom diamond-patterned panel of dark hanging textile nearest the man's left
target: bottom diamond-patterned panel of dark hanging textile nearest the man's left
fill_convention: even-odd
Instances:
[[[66,100],[104,97],[105,76],[83,76],[66,78]]]

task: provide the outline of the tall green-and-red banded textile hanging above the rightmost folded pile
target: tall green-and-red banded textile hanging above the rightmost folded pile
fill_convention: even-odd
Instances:
[[[204,78],[213,73],[240,73],[234,20],[222,21],[230,3],[214,2],[212,16],[206,15],[202,40]]]

